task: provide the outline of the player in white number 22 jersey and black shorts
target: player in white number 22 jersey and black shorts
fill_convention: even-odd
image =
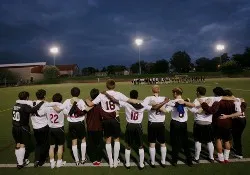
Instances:
[[[62,95],[56,93],[52,97],[53,105],[58,108],[62,108]],[[50,157],[50,166],[51,168],[60,168],[66,164],[66,161],[62,160],[63,156],[63,145],[65,142],[65,134],[64,134],[64,117],[68,115],[68,111],[64,109],[61,112],[56,112],[53,107],[43,108],[38,111],[39,116],[47,115],[48,124],[50,127],[49,132],[49,157]],[[57,161],[54,159],[55,154],[55,145],[58,145],[57,151]]]

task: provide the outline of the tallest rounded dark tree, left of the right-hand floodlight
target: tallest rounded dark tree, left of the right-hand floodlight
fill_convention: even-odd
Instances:
[[[185,51],[178,51],[173,54],[170,63],[176,72],[189,72],[191,58]]]

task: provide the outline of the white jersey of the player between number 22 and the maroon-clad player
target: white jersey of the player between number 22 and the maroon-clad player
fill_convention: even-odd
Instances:
[[[72,99],[67,99],[64,101],[63,106],[62,106],[62,110],[66,109],[67,111],[70,111],[70,109],[72,108],[73,104],[71,103],[72,101],[76,101],[77,102],[77,107],[80,110],[85,110],[86,109],[86,104],[83,100],[78,99],[78,98],[72,98]],[[74,116],[67,116],[67,120],[69,122],[81,122],[85,119],[85,116],[79,116],[79,117],[74,117]]]

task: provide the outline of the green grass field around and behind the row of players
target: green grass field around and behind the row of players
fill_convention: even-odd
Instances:
[[[161,95],[172,97],[171,89],[175,86],[180,86],[184,90],[184,98],[189,97],[190,99],[195,98],[195,89],[198,85],[203,85],[207,88],[207,95],[212,95],[212,89],[216,86],[221,86],[224,88],[231,88],[232,92],[237,97],[243,97],[246,102],[250,101],[250,79],[210,79],[207,80],[204,84],[170,84],[170,85],[161,85]],[[26,90],[30,92],[31,99],[35,99],[35,92],[38,89],[45,89],[47,91],[47,100],[50,101],[51,97],[54,93],[60,92],[63,95],[63,98],[70,97],[70,89],[74,86],[77,86],[81,89],[81,98],[86,98],[89,96],[89,91],[92,88],[98,88],[100,90],[105,89],[105,84],[57,84],[57,85],[39,85],[39,86],[27,86],[27,87],[12,87],[12,88],[2,88],[0,89],[1,94],[1,102],[0,102],[0,164],[15,164],[15,154],[14,154],[14,141],[11,135],[11,108],[17,99],[17,95],[20,91]],[[140,85],[133,86],[131,83],[117,83],[116,90],[123,92],[125,95],[129,95],[129,91],[132,89],[136,89],[139,91],[139,98],[143,99],[144,97],[151,94],[149,85]],[[122,110],[123,111],[123,110]],[[120,159],[124,159],[124,131],[126,126],[126,121],[124,117],[124,113],[121,112],[121,127],[122,127],[122,141],[121,141],[121,152]],[[246,112],[246,116],[250,116],[249,110]],[[166,133],[167,133],[167,143],[169,143],[169,124],[170,124],[170,115],[166,115]],[[244,149],[244,157],[250,157],[250,128],[247,127],[245,129],[243,135],[243,149]],[[67,122],[65,124],[67,131]],[[145,159],[149,158],[148,155],[148,143],[147,143],[147,115],[145,115],[143,121],[143,129],[144,129],[144,144],[145,144]],[[189,115],[188,120],[188,130],[190,134],[190,144],[192,144],[192,148],[194,144],[192,142],[192,126],[193,126],[193,115]],[[67,145],[67,144],[65,144]],[[171,150],[171,147],[168,146],[168,149]],[[203,155],[206,154],[206,150]],[[138,155],[133,152],[132,154],[134,159],[138,158]],[[32,161],[34,158],[34,154],[32,153],[30,156],[30,160]],[[159,153],[157,155],[159,158]],[[167,157],[170,157],[168,154]],[[70,149],[66,148],[64,153],[64,160],[67,162],[73,162],[73,159],[70,154]],[[133,160],[133,159],[132,159]],[[104,160],[105,161],[105,160]],[[160,166],[156,169],[152,169],[149,166],[145,168],[142,172],[138,170],[137,167],[132,167],[131,170],[126,170],[124,167],[118,167],[116,169],[109,169],[108,167],[64,167],[61,169],[50,170],[49,168],[26,168],[21,171],[16,170],[16,168],[0,168],[0,174],[69,174],[69,173],[88,173],[88,174],[248,174],[250,173],[250,162],[242,162],[242,163],[231,163],[227,165],[221,164],[200,164],[196,165],[193,168],[189,168],[186,165],[179,165],[178,167],[167,166],[165,169]],[[247,173],[248,172],[248,173]]]

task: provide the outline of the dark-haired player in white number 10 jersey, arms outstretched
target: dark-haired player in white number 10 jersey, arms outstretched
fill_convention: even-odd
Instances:
[[[138,91],[132,90],[130,91],[130,98],[137,100],[138,98]],[[116,101],[119,103],[121,107],[125,108],[126,113],[126,132],[125,132],[125,141],[127,143],[125,149],[125,159],[126,159],[126,168],[130,168],[130,153],[131,153],[131,146],[135,142],[136,146],[139,146],[139,156],[140,162],[139,167],[140,169],[144,168],[144,149],[143,149],[143,131],[141,122],[143,120],[143,112],[145,110],[150,111],[151,109],[157,110],[160,109],[164,104],[166,104],[169,100],[164,98],[164,101],[160,104],[149,106],[147,104],[130,104],[123,101]]]

